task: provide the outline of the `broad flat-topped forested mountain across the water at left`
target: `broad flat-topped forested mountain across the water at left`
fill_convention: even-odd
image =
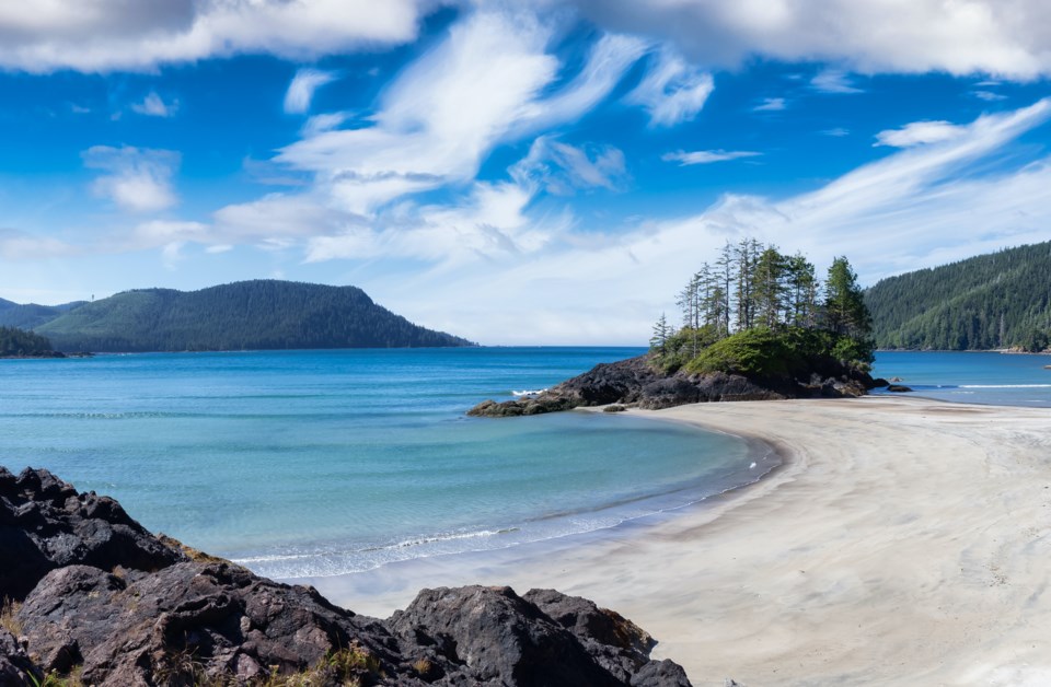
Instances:
[[[190,292],[125,291],[81,304],[33,328],[62,351],[472,346],[466,339],[412,324],[355,287],[274,280]]]

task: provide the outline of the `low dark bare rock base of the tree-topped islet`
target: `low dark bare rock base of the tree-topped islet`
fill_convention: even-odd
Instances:
[[[716,372],[665,374],[649,364],[649,356],[600,363],[532,398],[484,400],[470,416],[512,417],[570,410],[581,406],[620,404],[658,410],[694,403],[719,400],[773,400],[782,398],[842,398],[863,396],[876,383],[863,372],[843,366],[815,370],[806,379],[755,380]]]

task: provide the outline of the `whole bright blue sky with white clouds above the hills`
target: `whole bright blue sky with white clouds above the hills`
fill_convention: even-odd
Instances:
[[[642,345],[727,240],[864,284],[1051,238],[1041,0],[0,9],[0,298],[282,278]]]

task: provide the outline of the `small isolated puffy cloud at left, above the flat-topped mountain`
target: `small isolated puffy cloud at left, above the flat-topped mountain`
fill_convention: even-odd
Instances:
[[[172,176],[180,155],[174,151],[94,145],[81,156],[84,166],[103,172],[92,185],[95,195],[123,210],[155,212],[177,202]]]

